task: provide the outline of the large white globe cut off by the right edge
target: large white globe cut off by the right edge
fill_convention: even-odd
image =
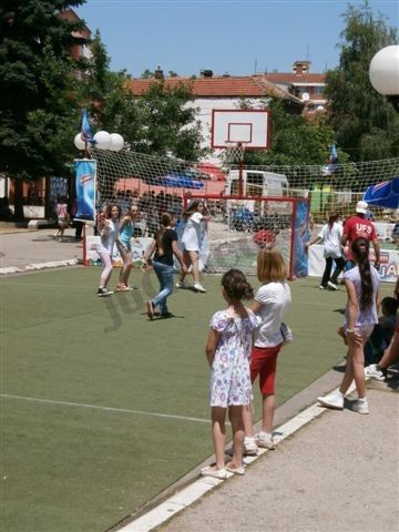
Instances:
[[[386,47],[376,53],[370,62],[369,78],[380,94],[399,94],[399,45]]]

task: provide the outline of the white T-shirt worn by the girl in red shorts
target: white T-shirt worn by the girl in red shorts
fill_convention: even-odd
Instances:
[[[282,344],[280,326],[290,300],[290,288],[287,283],[274,282],[259,287],[255,301],[262,305],[258,314],[262,325],[254,332],[256,347],[275,347]]]

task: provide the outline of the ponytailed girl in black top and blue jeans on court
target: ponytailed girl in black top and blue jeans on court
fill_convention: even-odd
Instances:
[[[168,318],[172,314],[167,309],[166,299],[173,291],[173,255],[177,258],[182,272],[187,272],[183,263],[182,254],[177,247],[177,234],[173,228],[173,216],[170,213],[163,213],[161,225],[152,244],[144,254],[144,272],[149,272],[147,262],[154,254],[152,266],[160,282],[160,293],[150,301],[146,301],[146,314],[150,319],[154,317],[154,310],[160,306],[160,317]]]

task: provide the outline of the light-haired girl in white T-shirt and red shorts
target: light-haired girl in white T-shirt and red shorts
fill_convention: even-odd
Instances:
[[[254,436],[253,415],[249,407],[244,409],[246,454],[257,454],[258,447],[274,449],[272,436],[275,400],[275,377],[277,356],[283,347],[282,323],[291,295],[286,282],[284,258],[276,247],[260,249],[257,256],[257,277],[262,286],[255,295],[250,310],[262,319],[254,334],[250,359],[250,381],[259,376],[263,398],[262,430]]]

